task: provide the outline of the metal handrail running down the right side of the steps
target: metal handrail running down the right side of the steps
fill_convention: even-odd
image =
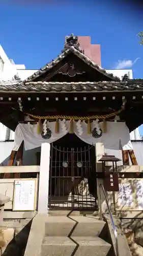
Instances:
[[[102,184],[99,185],[99,201],[100,201],[100,212],[99,213],[100,213],[100,219],[102,220],[102,202],[101,202],[101,191],[100,191],[101,188],[102,188],[102,191],[103,191],[103,194],[104,194],[104,198],[105,198],[105,202],[106,202],[106,205],[107,205],[108,213],[109,213],[109,216],[110,216],[110,219],[111,219],[113,233],[114,233],[114,236],[115,236],[116,256],[119,256],[117,229],[116,229],[115,223],[113,221],[113,217],[112,217],[111,210],[110,210],[108,200],[107,200],[107,197],[106,197],[105,189],[104,189],[104,186]]]

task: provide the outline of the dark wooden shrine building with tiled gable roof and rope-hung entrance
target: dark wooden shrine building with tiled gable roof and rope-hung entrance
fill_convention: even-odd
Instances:
[[[122,151],[123,165],[129,166],[129,158],[137,165],[130,132],[143,122],[143,79],[121,80],[100,67],[99,55],[95,61],[72,34],[62,53],[32,76],[0,84],[0,122],[15,131],[8,165],[22,165],[23,147],[35,150],[40,165],[36,149],[50,143],[49,208],[98,208],[97,143]]]

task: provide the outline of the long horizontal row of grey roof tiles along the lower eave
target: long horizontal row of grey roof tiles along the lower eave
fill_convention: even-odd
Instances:
[[[128,82],[22,82],[0,81],[0,93],[143,91],[143,80]]]

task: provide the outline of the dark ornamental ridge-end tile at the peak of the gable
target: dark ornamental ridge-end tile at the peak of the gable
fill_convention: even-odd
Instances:
[[[84,53],[84,51],[80,49],[77,35],[71,34],[70,36],[67,35],[65,37],[64,50],[62,52],[66,51],[67,49],[71,48],[72,46],[79,52]]]

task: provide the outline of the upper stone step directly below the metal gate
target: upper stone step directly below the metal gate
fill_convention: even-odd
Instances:
[[[95,217],[72,216],[49,216],[45,223],[45,236],[50,237],[96,237],[99,236],[105,222]]]

